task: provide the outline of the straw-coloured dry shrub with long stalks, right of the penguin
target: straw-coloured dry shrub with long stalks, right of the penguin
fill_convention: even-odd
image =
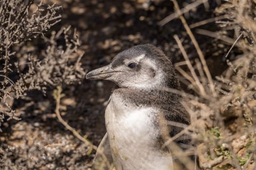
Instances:
[[[223,3],[216,9],[217,15],[227,16],[217,21],[221,31],[204,32],[221,37],[224,44],[233,43],[227,58],[230,54],[235,55],[232,52],[234,47],[242,51],[242,54],[227,59],[229,67],[216,77],[214,90],[203,61],[195,59],[196,65],[192,66],[179,39],[175,38],[190,72],[182,70],[179,63],[176,68],[196,93],[195,96],[187,95],[191,103],[187,110],[192,115],[192,125],[187,129],[196,133],[193,138],[197,143],[199,166],[203,170],[256,169],[255,5],[253,0]]]

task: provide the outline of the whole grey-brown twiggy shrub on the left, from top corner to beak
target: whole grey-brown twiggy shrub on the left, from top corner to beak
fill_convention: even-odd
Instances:
[[[32,9],[32,5],[36,8]],[[26,91],[44,92],[49,85],[69,85],[84,77],[79,63],[82,57],[82,53],[78,53],[79,39],[76,32],[71,35],[70,27],[61,28],[58,33],[53,31],[49,39],[43,36],[46,49],[41,49],[41,53],[24,44],[44,35],[58,23],[60,8],[56,5],[46,7],[42,1],[33,4],[33,0],[0,2],[0,61],[3,62],[0,67],[0,122],[5,117],[18,119],[10,101],[25,96]]]

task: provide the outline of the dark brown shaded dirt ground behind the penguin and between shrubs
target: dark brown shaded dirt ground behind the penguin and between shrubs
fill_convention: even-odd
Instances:
[[[151,43],[160,47],[174,63],[183,60],[173,38],[177,34],[193,59],[197,53],[188,41],[187,34],[177,19],[165,26],[158,22],[174,12],[170,0],[44,0],[44,3],[62,5],[61,26],[76,28],[84,51],[82,66],[92,70],[108,64],[120,51],[138,44]],[[180,0],[185,6],[190,0]],[[189,24],[214,17],[217,1],[210,0],[210,7],[200,5],[185,15]],[[208,23],[200,28],[215,31],[217,25]],[[195,31],[197,28],[192,29]],[[195,34],[214,76],[227,68],[223,58],[227,47],[213,38]],[[37,47],[40,49],[40,46]],[[234,50],[236,51],[236,50]],[[232,58],[232,53],[231,53]],[[219,69],[216,69],[219,68]],[[186,85],[182,85],[186,91]],[[61,116],[81,135],[98,145],[104,136],[104,109],[115,85],[105,81],[83,80],[79,85],[64,87]],[[2,125],[0,153],[8,151],[3,170],[86,170],[92,166],[94,153],[58,121],[51,87],[44,96],[39,91],[29,92],[15,100],[20,120],[10,120]]]

